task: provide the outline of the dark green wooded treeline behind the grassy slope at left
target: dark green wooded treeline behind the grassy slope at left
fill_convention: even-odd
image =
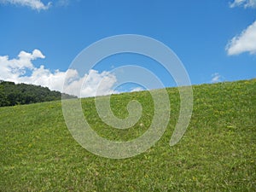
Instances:
[[[75,98],[63,94],[66,99]],[[15,84],[0,80],[0,107],[61,100],[61,92],[33,84]]]

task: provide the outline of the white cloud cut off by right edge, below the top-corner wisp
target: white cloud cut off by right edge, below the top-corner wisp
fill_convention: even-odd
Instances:
[[[228,55],[238,55],[243,52],[256,54],[256,20],[240,35],[232,38],[226,46]]]

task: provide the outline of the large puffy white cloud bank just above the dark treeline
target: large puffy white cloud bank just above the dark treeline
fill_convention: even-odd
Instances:
[[[38,84],[49,87],[50,90],[63,91],[64,79],[67,78],[68,84],[64,92],[68,94],[86,97],[113,93],[113,85],[117,79],[112,73],[90,70],[84,77],[79,77],[79,73],[73,69],[66,72],[56,70],[52,73],[43,65],[35,67],[32,64],[32,61],[38,58],[45,58],[38,49],[34,49],[32,53],[20,51],[17,59],[9,59],[8,55],[0,56],[0,79],[15,83]]]

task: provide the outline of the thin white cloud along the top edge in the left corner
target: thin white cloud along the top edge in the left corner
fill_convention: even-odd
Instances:
[[[46,5],[40,0],[0,0],[0,3],[11,3],[20,6],[30,7],[31,9],[45,10],[49,9],[51,2]]]

